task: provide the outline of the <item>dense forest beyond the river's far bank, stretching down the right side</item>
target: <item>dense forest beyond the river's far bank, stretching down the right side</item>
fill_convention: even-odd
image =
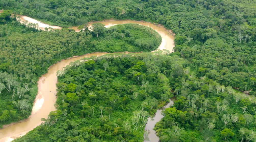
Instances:
[[[1,4],[3,9],[63,27],[111,18],[162,24],[177,34],[175,51],[193,64],[197,77],[255,90],[255,1],[2,0]]]

